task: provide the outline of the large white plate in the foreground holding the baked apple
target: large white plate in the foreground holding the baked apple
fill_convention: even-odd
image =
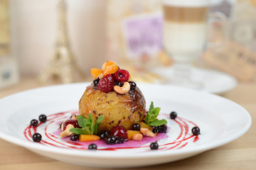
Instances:
[[[160,117],[167,118],[171,128],[168,132],[169,137],[159,141],[159,150],[151,151],[148,147],[149,144],[146,144],[146,147],[135,149],[92,152],[86,149],[65,149],[41,145],[29,142],[24,137],[23,132],[28,127],[30,120],[38,118],[38,115],[42,113],[49,115],[50,118],[50,114],[53,113],[77,111],[78,101],[87,85],[48,86],[1,99],[0,137],[61,162],[107,168],[134,167],[173,162],[225,145],[243,135],[251,125],[250,114],[244,108],[220,96],[175,86],[138,84],[146,98],[146,107],[149,107],[150,101],[154,101],[155,106],[161,107]],[[187,137],[192,137],[178,145],[178,147],[183,146],[182,148],[170,149],[174,145],[166,145],[174,142],[182,128],[174,120],[168,118],[167,114],[171,111],[176,111],[180,118],[191,120],[201,128],[199,140],[194,142],[196,137],[191,134],[193,125],[186,121],[189,130]],[[38,131],[41,132],[43,140],[46,142],[51,142],[43,134],[44,128],[49,123],[50,121],[38,127]],[[58,125],[51,124],[48,128],[48,132],[54,132]],[[183,131],[185,131],[184,128]],[[63,142],[56,140],[60,143]],[[176,142],[176,144],[178,143]]]

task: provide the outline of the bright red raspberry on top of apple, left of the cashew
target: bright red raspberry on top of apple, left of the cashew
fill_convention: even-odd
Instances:
[[[110,91],[114,90],[114,78],[111,76],[111,74],[107,74],[100,79],[98,89],[105,93],[109,93]]]

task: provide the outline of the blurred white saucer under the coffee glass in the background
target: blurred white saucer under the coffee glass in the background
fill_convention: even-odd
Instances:
[[[174,75],[174,69],[170,68],[157,68],[154,72],[160,74],[166,79],[171,79]],[[203,83],[203,88],[199,89],[201,91],[206,91],[212,94],[222,94],[226,91],[234,89],[238,85],[237,79],[226,74],[224,72],[219,72],[213,69],[201,69],[193,67],[191,70],[191,79],[193,81],[198,81]]]

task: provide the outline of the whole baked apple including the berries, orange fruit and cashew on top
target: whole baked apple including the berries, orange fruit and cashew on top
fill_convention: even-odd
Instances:
[[[142,122],[146,102],[127,70],[106,62],[102,70],[92,69],[91,74],[95,80],[79,101],[80,115],[88,118],[91,113],[95,121],[103,115],[100,130],[108,131],[116,125],[132,130],[134,123]]]

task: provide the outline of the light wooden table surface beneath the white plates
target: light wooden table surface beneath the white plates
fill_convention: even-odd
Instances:
[[[40,86],[60,84],[59,80],[50,80],[46,84],[39,84],[36,79],[26,77],[15,86],[0,90],[0,98],[18,91],[33,89]],[[240,83],[238,86],[223,94],[236,103],[239,103],[252,116],[252,126],[245,135],[222,147],[211,149],[195,157],[177,162],[137,169],[256,169],[256,84]],[[100,161],[100,160],[99,160]],[[95,169],[84,166],[75,166],[55,161],[33,153],[0,139],[0,169]]]

